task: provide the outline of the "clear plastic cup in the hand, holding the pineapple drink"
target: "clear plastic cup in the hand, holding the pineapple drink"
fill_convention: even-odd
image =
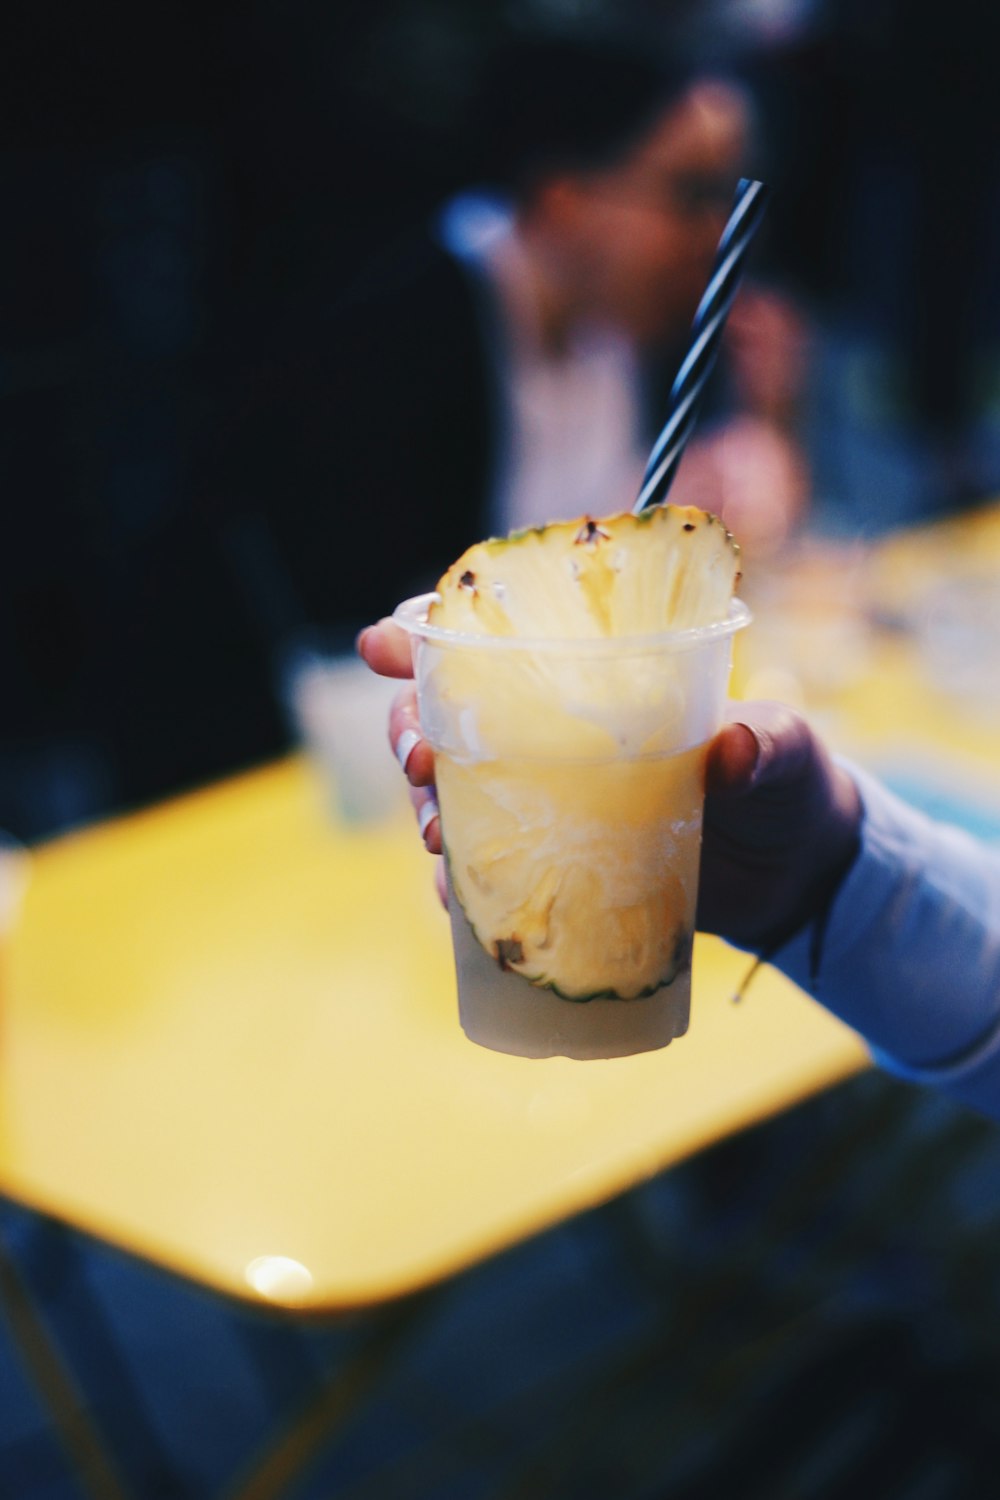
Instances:
[[[723,720],[732,638],[750,610],[733,600],[714,626],[631,639],[519,640],[429,624],[433,597],[406,600],[394,618],[411,638],[435,752],[466,1036],[522,1058],[666,1047],[688,1028],[705,756]],[[471,806],[490,810],[490,858],[508,842],[531,866],[544,840],[552,879],[591,890],[561,950],[568,932],[573,952],[579,933],[579,952],[600,956],[591,998],[586,974],[573,986],[559,978],[556,993],[517,972],[508,962],[520,957],[516,932],[510,940],[474,932],[454,879],[490,879]],[[621,932],[651,892],[669,972],[637,990]],[[570,990],[574,998],[564,998]]]

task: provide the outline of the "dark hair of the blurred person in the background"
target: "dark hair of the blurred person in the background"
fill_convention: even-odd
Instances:
[[[483,177],[522,196],[552,172],[610,165],[693,75],[621,33],[510,38],[480,90]]]

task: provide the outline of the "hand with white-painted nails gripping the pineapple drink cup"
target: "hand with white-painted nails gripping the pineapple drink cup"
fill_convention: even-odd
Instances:
[[[412,675],[409,639],[382,620],[358,638],[382,676]],[[411,786],[424,844],[441,854],[433,753],[420,734],[417,692],[405,682],[390,742]],[[766,950],[817,915],[858,850],[861,798],[807,722],[783,704],[729,705],[709,747],[697,921]],[[442,890],[442,874],[438,874]]]

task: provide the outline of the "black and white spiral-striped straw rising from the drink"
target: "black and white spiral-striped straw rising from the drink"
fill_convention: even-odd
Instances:
[[[769,189],[763,183],[741,177],[736,204],[718,242],[712,274],[694,314],[691,346],[670,390],[670,416],[652,446],[642,477],[636,514],[649,510],[651,506],[661,506],[667,498],[691,436],[705,386],[715,366],[726,318],[739,290],[750,242],[763,219]]]

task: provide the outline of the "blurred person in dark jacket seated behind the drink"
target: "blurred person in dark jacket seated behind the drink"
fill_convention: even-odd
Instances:
[[[751,108],[598,34],[516,38],[477,111],[489,190],[373,258],[238,416],[219,524],[277,645],[432,586],[472,540],[630,508],[747,168]],[[673,498],[747,546],[805,502],[804,326],[744,290]],[[730,514],[732,513],[732,514]]]

